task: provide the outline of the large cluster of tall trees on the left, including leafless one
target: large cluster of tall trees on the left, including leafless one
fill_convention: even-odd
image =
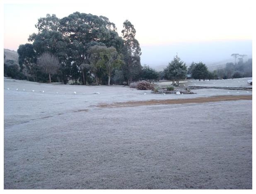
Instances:
[[[80,12],[62,19],[47,14],[35,26],[38,33],[29,36],[31,44],[17,50],[20,71],[28,80],[110,85],[140,77],[140,44],[128,20],[123,38],[108,18]]]

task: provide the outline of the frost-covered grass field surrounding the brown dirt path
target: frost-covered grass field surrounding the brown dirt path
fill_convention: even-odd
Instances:
[[[242,87],[247,79],[182,84]],[[5,79],[4,188],[252,189],[252,100],[102,106],[252,95],[193,92]]]

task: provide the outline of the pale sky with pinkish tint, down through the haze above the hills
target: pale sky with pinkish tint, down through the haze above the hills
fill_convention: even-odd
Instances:
[[[201,46],[195,45],[207,45],[207,43],[209,45],[222,43],[219,48],[218,44],[215,44],[211,49],[216,52],[223,49],[223,44],[227,43],[227,46],[233,49],[229,49],[232,53],[241,52],[240,54],[248,55],[252,53],[252,34],[255,24],[253,0],[71,0],[69,3],[53,0],[5,0],[3,2],[4,48],[10,50],[17,50],[20,44],[27,43],[29,35],[37,31],[34,25],[40,17],[56,14],[61,19],[78,11],[108,17],[116,24],[120,36],[123,22],[128,19],[137,31],[135,38],[142,48],[142,64],[157,65],[171,61],[176,52],[181,53],[184,58],[191,56],[185,61],[192,62],[195,60],[191,52],[200,53]],[[246,44],[244,41],[247,41]],[[236,50],[234,48],[236,42],[243,43],[244,47]],[[183,52],[182,45],[186,47],[186,52]],[[175,50],[176,47],[179,49]],[[161,48],[165,50],[161,52]],[[202,51],[205,51],[205,48]],[[227,52],[227,58],[230,58],[232,53]],[[197,55],[195,58],[198,57],[200,56]]]

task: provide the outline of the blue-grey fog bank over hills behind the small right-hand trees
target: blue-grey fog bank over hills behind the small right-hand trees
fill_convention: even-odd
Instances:
[[[173,43],[168,45],[141,46],[141,64],[147,64],[157,71],[163,70],[178,53],[182,61],[190,66],[192,62],[203,62],[210,71],[234,62],[233,53],[246,54],[252,58],[252,40],[220,40],[199,43]]]

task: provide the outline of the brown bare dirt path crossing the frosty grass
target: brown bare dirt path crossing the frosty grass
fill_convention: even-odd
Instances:
[[[205,102],[220,102],[230,100],[252,100],[252,95],[226,95],[226,96],[213,96],[213,97],[199,97],[190,99],[165,99],[165,100],[147,100],[147,101],[130,101],[130,102],[117,102],[114,104],[100,104],[101,108],[118,108],[118,107],[134,107],[145,105],[158,105],[158,104],[187,104],[187,103],[205,103]]]

